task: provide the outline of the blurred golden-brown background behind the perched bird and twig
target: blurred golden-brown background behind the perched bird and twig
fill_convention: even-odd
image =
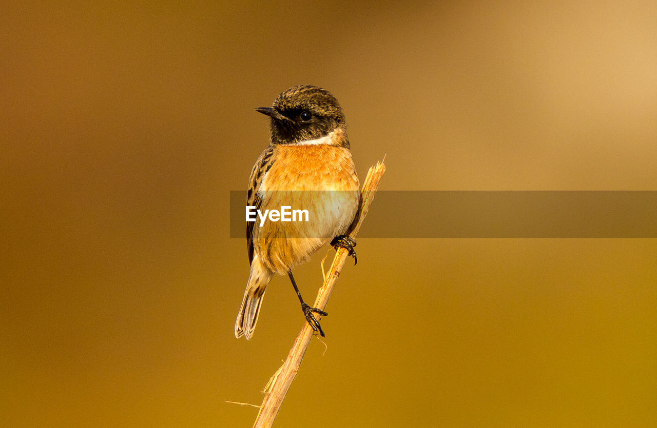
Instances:
[[[233,336],[229,190],[292,85],[384,190],[657,190],[657,6],[575,3],[3,3],[0,423],[250,426],[304,320]],[[360,240],[277,425],[655,425],[656,254]]]

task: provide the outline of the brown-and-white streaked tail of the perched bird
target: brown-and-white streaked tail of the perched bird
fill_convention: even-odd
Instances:
[[[265,297],[265,288],[271,281],[273,272],[260,263],[258,255],[255,255],[251,262],[251,273],[248,277],[246,290],[244,290],[244,298],[242,299],[242,307],[237,314],[235,321],[235,337],[246,337],[250,339],[253,331],[256,329],[256,322],[258,322],[258,314],[260,313],[260,305],[262,299]]]

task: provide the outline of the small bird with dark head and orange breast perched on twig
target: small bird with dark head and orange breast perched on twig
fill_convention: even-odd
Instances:
[[[335,96],[314,85],[291,87],[271,107],[256,111],[269,116],[271,138],[252,168],[247,207],[266,213],[283,205],[302,205],[310,215],[307,221],[266,221],[261,226],[247,221],[250,272],[235,337],[252,337],[274,274],[290,278],[307,323],[325,336],[315,314],[327,312],[304,301],[292,269],[326,244],[347,249],[357,263],[356,241],[349,233],[362,199],[344,113]]]

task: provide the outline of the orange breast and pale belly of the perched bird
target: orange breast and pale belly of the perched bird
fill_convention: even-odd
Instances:
[[[255,227],[256,253],[269,269],[284,274],[346,232],[358,209],[359,183],[348,148],[277,146],[273,156],[275,161],[260,186],[262,209],[290,205],[309,211],[307,222],[269,222]]]

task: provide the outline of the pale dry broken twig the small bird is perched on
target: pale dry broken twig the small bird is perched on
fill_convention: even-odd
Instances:
[[[385,157],[384,157],[385,160]],[[374,194],[378,189],[378,185],[381,182],[383,174],[386,172],[386,165],[384,161],[377,162],[376,165],[371,167],[367,171],[367,177],[365,177],[365,182],[363,183],[363,205],[359,211],[358,222],[351,232],[351,238],[355,238],[358,234],[358,231],[361,228],[363,219],[369,211],[369,205],[374,200]],[[317,293],[317,299],[315,299],[315,304],[313,307],[323,310],[327,303],[330,293],[333,291],[333,286],[340,276],[340,271],[344,267],[344,262],[348,257],[348,251],[344,248],[338,249],[333,263],[328,269],[328,274],[324,278],[324,284],[319,289]],[[319,316],[317,316],[319,318]],[[301,329],[301,332],[296,337],[292,349],[286,358],[283,366],[279,368],[276,374],[269,380],[267,388],[265,388],[265,398],[262,401],[260,406],[260,411],[258,412],[258,417],[256,417],[256,423],[254,427],[271,427],[274,423],[274,419],[283,404],[285,395],[292,385],[292,381],[299,371],[299,366],[301,361],[304,359],[304,354],[306,354],[306,349],[310,344],[310,339],[313,337],[313,329],[309,324],[304,323],[304,327]]]

